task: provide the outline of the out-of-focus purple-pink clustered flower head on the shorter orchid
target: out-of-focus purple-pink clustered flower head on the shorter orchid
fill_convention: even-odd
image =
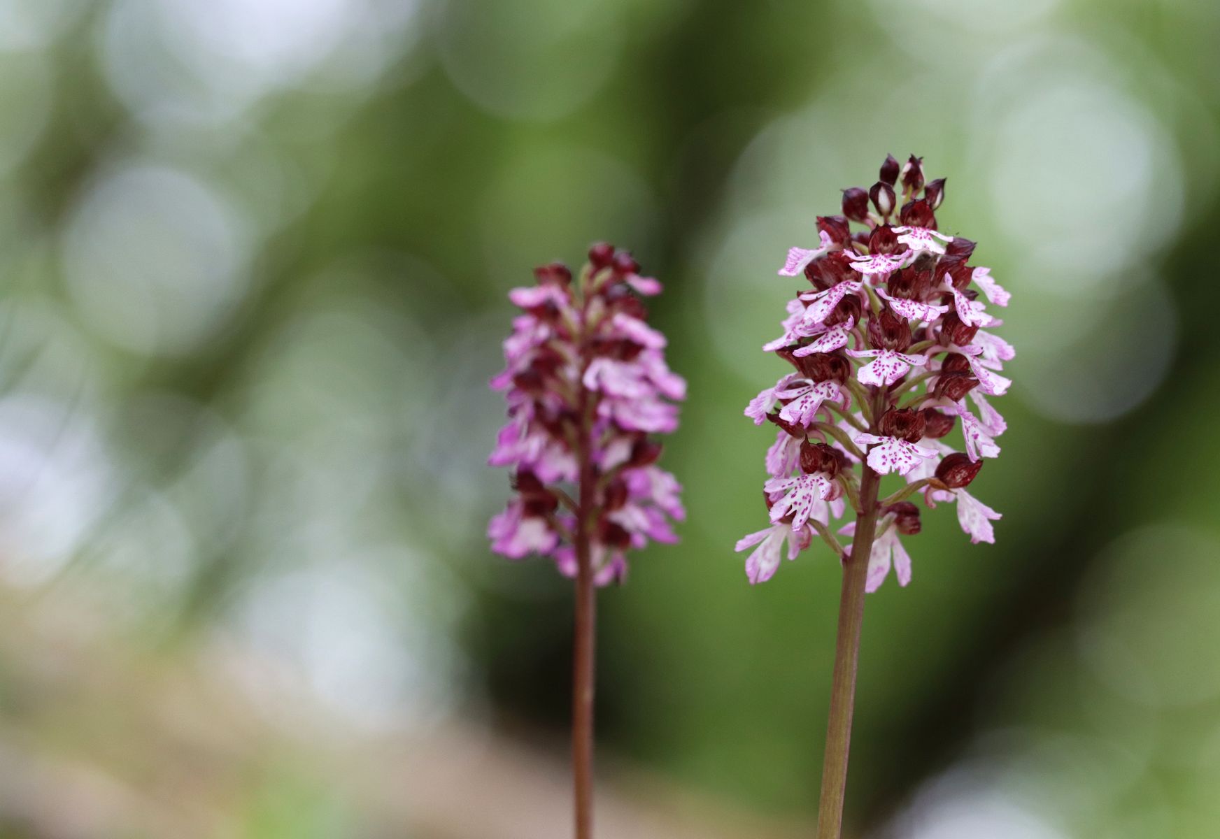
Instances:
[[[536,268],[536,285],[509,293],[522,313],[490,383],[509,422],[488,462],[514,469],[516,491],[488,526],[492,549],[550,556],[575,577],[576,543],[588,538],[598,585],[622,582],[627,549],[677,541],[670,519],[686,516],[649,437],[677,428],[686,382],[645,322],[640,295],[661,284],[638,272],[631,254],[604,243],[575,282],[561,263]]]

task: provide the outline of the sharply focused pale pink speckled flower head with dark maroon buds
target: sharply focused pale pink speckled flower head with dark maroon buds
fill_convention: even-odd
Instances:
[[[966,487],[999,455],[1005,429],[988,400],[1008,390],[1000,370],[1014,350],[991,332],[1002,322],[987,306],[1006,306],[1009,293],[970,265],[974,241],[937,228],[943,200],[944,179],[925,183],[922,159],[887,156],[870,189],[843,190],[842,215],[817,218],[817,248],[788,251],[780,276],[811,288],[762,348],[793,372],[745,409],[777,428],[764,484],[771,526],[737,543],[756,546],[752,583],[770,579],[784,543],[795,559],[815,533],[847,555],[831,530],[848,502],[859,512],[865,468],[906,480],[878,510],[869,591],[891,566],[899,584],[910,580],[902,537],[920,532],[920,509],[905,500],[917,491],[928,507],[955,502],[971,541],[994,541],[1000,515]],[[963,451],[950,445],[958,438]],[[838,532],[853,535],[855,522]]]

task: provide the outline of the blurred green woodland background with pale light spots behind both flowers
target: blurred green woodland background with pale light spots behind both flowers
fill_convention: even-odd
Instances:
[[[570,590],[493,557],[509,288],[666,284],[682,544],[600,835],[809,835],[838,571],[752,588],[784,251],[886,152],[1014,294],[1004,455],[869,598],[850,835],[1218,835],[1220,6],[0,0],[0,837],[549,839]]]

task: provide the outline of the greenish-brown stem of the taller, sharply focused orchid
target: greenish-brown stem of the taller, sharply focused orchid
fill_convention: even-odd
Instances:
[[[884,393],[874,399],[874,416],[881,413]],[[864,624],[864,587],[869,579],[869,555],[877,534],[877,491],[881,476],[864,465],[860,480],[860,510],[852,537],[852,550],[843,560],[843,590],[839,595],[838,635],[834,640],[834,673],[831,685],[830,718],[826,723],[826,756],[822,760],[822,793],[817,806],[817,839],[839,839],[843,828],[843,798],[847,793],[847,762],[852,745],[852,713],[855,709],[855,672],[860,660],[860,627]]]

